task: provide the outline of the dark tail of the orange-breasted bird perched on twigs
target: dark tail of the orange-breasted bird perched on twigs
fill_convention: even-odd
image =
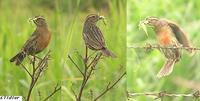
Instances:
[[[20,65],[24,58],[26,57],[25,52],[20,52],[17,55],[15,55],[13,58],[10,59],[10,62],[15,62],[16,65]]]

